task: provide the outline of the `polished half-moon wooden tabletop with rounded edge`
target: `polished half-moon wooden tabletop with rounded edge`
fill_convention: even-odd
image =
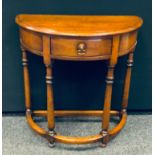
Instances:
[[[138,16],[27,15],[16,16],[23,28],[50,35],[106,36],[137,30],[143,23]]]

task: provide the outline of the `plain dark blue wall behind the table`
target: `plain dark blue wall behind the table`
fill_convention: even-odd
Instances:
[[[3,112],[23,112],[24,89],[17,14],[138,15],[144,24],[135,50],[129,97],[130,110],[150,110],[151,0],[3,0]],[[33,109],[46,109],[45,67],[41,57],[28,54]],[[112,108],[119,109],[126,58],[116,67]],[[106,64],[94,62],[54,62],[56,109],[102,109]]]

